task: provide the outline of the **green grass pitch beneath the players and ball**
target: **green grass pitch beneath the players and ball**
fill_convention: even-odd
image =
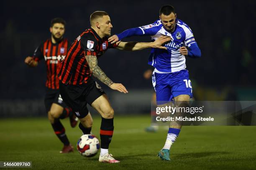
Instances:
[[[81,131],[72,129],[68,119],[62,122],[75,147]],[[116,116],[114,124],[110,153],[121,162],[106,164],[98,162],[98,155],[84,158],[77,150],[60,154],[62,144],[46,118],[1,119],[0,161],[32,161],[32,169],[38,170],[256,169],[256,126],[183,127],[171,148],[171,161],[162,161],[156,155],[166,140],[164,127],[146,133],[149,116]],[[100,117],[95,117],[92,132],[98,138],[99,130]]]

